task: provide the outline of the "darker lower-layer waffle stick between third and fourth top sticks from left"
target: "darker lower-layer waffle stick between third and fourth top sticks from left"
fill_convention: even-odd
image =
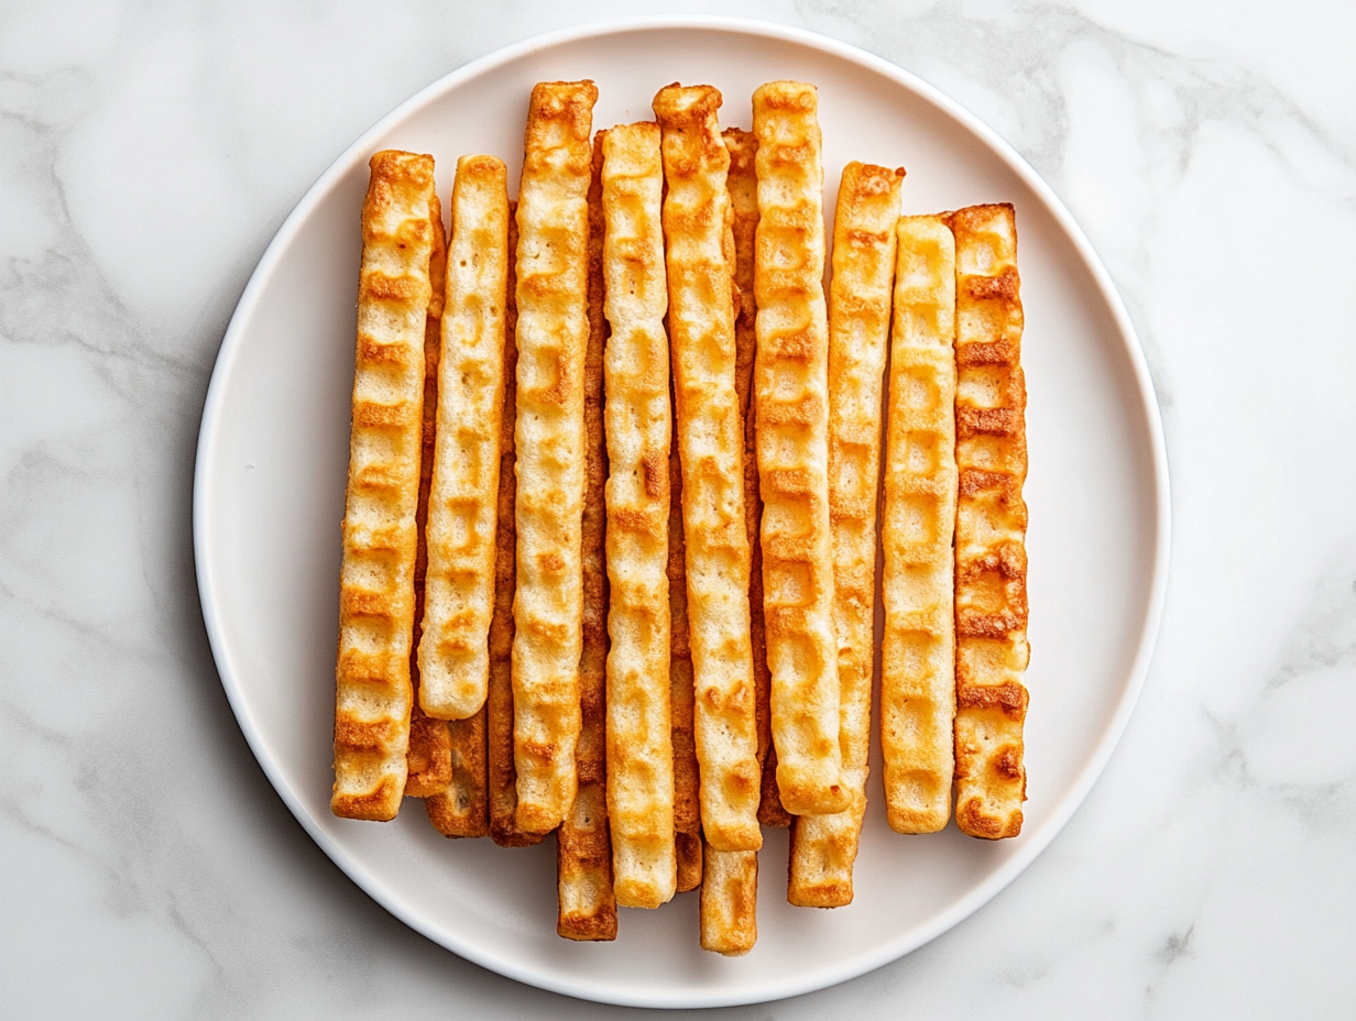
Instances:
[[[575,767],[579,793],[556,831],[556,933],[567,940],[616,940],[617,899],[613,895],[612,839],[607,822],[606,687],[607,687],[607,568],[603,559],[607,446],[603,438],[603,210],[602,133],[594,136],[589,180],[589,351],[584,355],[584,626],[579,656],[579,744]]]

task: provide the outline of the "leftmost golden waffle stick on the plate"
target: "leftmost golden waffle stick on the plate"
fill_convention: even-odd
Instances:
[[[423,342],[433,287],[433,157],[372,157],[344,496],[330,808],[386,820],[408,773],[410,648],[423,431]]]

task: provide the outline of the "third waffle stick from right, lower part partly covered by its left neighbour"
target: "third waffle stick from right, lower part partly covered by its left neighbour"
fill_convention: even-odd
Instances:
[[[842,686],[838,740],[852,804],[837,815],[796,816],[786,899],[800,907],[852,903],[853,862],[866,812],[880,401],[902,179],[903,169],[849,163],[834,216],[834,278],[829,292],[829,506],[834,525],[834,621]]]

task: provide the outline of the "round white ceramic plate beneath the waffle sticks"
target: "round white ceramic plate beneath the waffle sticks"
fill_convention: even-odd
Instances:
[[[750,126],[762,81],[819,85],[826,203],[853,159],[904,165],[904,212],[1017,207],[1029,388],[1029,797],[1018,839],[898,837],[879,753],[857,899],[785,900],[785,831],[762,853],[758,945],[697,945],[697,898],[622,911],[614,944],[556,936],[553,843],[446,841],[410,801],[386,826],[330,814],[339,522],[348,453],[358,209],[377,149],[430,152],[446,195],[458,155],[517,179],[533,83],[591,77],[597,126],[648,119],[662,85],[712,83]],[[1168,565],[1158,408],[1131,324],[1086,239],[993,132],[883,60],[780,26],[613,24],[519,43],[418,94],[344,152],[278,231],[226,331],[194,494],[198,580],[226,694],[259,762],[334,861],[396,917],[494,971],[644,1006],[746,1003],[820,988],[932,940],[1013,880],[1064,824],[1119,739],[1149,664]]]

